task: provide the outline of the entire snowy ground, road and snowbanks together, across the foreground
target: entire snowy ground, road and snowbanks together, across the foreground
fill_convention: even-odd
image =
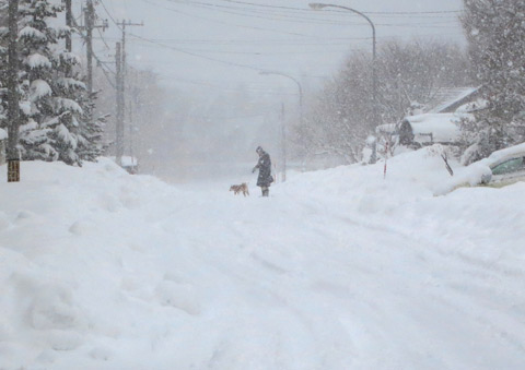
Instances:
[[[34,165],[0,188],[0,369],[523,369],[525,183],[435,198],[434,159],[270,199]]]

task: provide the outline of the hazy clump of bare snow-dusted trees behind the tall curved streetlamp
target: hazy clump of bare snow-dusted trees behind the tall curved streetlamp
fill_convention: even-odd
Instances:
[[[468,59],[447,43],[384,43],[376,62],[381,121],[374,120],[371,56],[353,52],[310,105],[305,124],[295,132],[298,157],[323,154],[341,164],[359,162],[378,124],[397,123],[442,87],[469,83]]]

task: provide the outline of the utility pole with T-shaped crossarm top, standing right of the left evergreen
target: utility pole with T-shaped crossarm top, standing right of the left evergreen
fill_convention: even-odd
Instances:
[[[132,23],[131,21],[122,21],[117,23],[122,31],[122,41],[117,43],[116,62],[117,62],[117,132],[116,132],[116,163],[122,165],[124,155],[124,119],[126,111],[126,26],[143,26],[144,23]]]

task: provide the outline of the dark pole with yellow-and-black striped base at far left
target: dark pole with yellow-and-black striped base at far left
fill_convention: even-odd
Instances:
[[[8,73],[8,182],[20,182],[19,144],[20,106],[19,106],[19,55],[16,40],[19,36],[19,0],[9,0],[9,73]]]

